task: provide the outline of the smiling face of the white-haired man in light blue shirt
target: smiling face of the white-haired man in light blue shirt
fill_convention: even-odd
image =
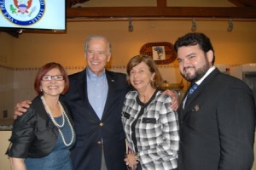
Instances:
[[[91,39],[85,56],[90,71],[100,76],[111,56],[108,52],[108,42],[101,38]]]

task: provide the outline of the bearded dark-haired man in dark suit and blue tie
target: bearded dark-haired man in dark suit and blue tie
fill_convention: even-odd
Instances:
[[[213,66],[214,50],[204,34],[180,37],[174,48],[179,70],[191,82],[179,111],[178,169],[251,169],[255,129],[252,91],[245,82]]]

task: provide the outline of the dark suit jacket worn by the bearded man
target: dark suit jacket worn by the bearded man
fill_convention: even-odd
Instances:
[[[255,104],[245,82],[215,69],[185,108],[180,107],[179,121],[179,170],[249,170],[253,166]]]

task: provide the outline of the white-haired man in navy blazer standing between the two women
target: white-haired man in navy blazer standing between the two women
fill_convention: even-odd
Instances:
[[[72,109],[77,134],[73,169],[125,169],[121,110],[128,92],[126,76],[105,69],[111,57],[106,37],[88,37],[84,49],[87,68],[69,76],[64,98]]]

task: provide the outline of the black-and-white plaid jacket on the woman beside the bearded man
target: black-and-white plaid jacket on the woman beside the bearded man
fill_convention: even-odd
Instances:
[[[131,150],[137,147],[137,156],[147,170],[170,170],[177,167],[179,144],[177,113],[170,108],[172,99],[160,91],[147,104],[138,99],[137,91],[126,94],[122,122]],[[143,115],[138,117],[139,112]],[[131,125],[136,122],[135,132]],[[136,143],[131,136],[136,133]]]

